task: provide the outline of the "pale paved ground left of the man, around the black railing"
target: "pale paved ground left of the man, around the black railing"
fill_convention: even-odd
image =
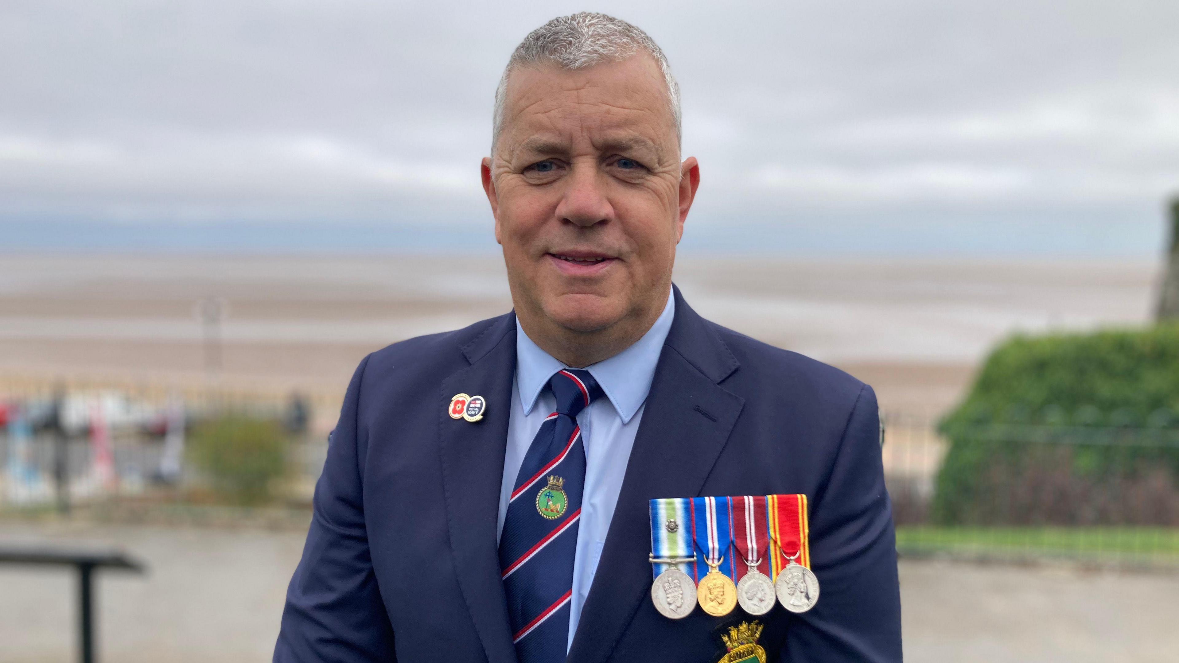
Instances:
[[[270,661],[303,534],[179,527],[0,523],[0,540],[124,546],[147,576],[101,573],[100,661]],[[65,662],[74,648],[73,573],[0,566],[0,661]]]

